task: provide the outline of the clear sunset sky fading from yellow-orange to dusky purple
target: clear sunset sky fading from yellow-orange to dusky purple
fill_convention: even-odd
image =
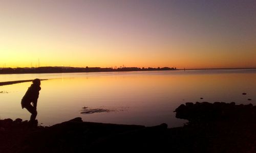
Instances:
[[[0,67],[256,67],[256,1],[0,0]]]

